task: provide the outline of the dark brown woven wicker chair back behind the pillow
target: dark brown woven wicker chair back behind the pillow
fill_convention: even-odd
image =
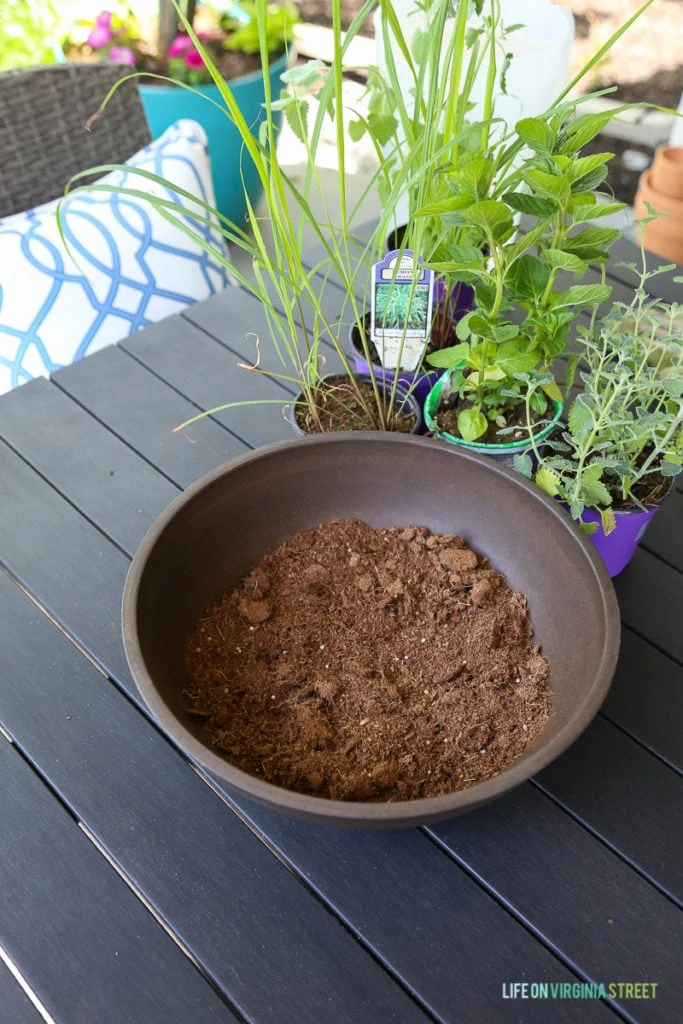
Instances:
[[[120,164],[151,140],[134,82],[86,121],[126,65],[66,63],[0,74],[0,217],[63,194],[78,171]]]

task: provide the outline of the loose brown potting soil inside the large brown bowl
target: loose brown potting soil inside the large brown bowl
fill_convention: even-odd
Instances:
[[[295,535],[208,609],[186,669],[191,713],[228,761],[335,800],[464,790],[550,717],[525,598],[424,527]]]

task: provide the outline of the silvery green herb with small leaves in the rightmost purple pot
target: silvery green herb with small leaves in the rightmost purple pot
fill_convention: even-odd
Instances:
[[[529,451],[515,457],[517,470],[565,502],[579,522],[586,509],[598,512],[605,535],[614,529],[615,510],[657,505],[683,468],[683,306],[663,304],[645,291],[650,278],[671,269],[648,272],[643,253],[633,301],[615,303],[582,332],[568,377],[571,384],[579,364],[579,394],[561,437],[542,445],[529,419],[542,382],[525,379]]]

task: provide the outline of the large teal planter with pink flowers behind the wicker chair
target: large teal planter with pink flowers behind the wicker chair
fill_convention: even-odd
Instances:
[[[270,90],[276,97],[282,88],[280,76],[286,70],[286,53],[268,68]],[[258,124],[263,120],[262,104],[265,100],[262,72],[244,75],[227,84],[245,119],[252,126],[253,134],[257,135]],[[244,152],[240,132],[227,118],[218,86],[199,85],[195,89],[196,92],[188,92],[180,86],[163,83],[140,85],[140,96],[152,137],[159,138],[169,125],[181,118],[198,121],[209,137],[216,207],[224,217],[242,224],[247,216],[245,191],[253,206],[261,197],[262,188],[256,168],[251,157]],[[214,103],[218,103],[218,106],[214,106]],[[273,121],[280,128],[282,115],[273,114]]]

